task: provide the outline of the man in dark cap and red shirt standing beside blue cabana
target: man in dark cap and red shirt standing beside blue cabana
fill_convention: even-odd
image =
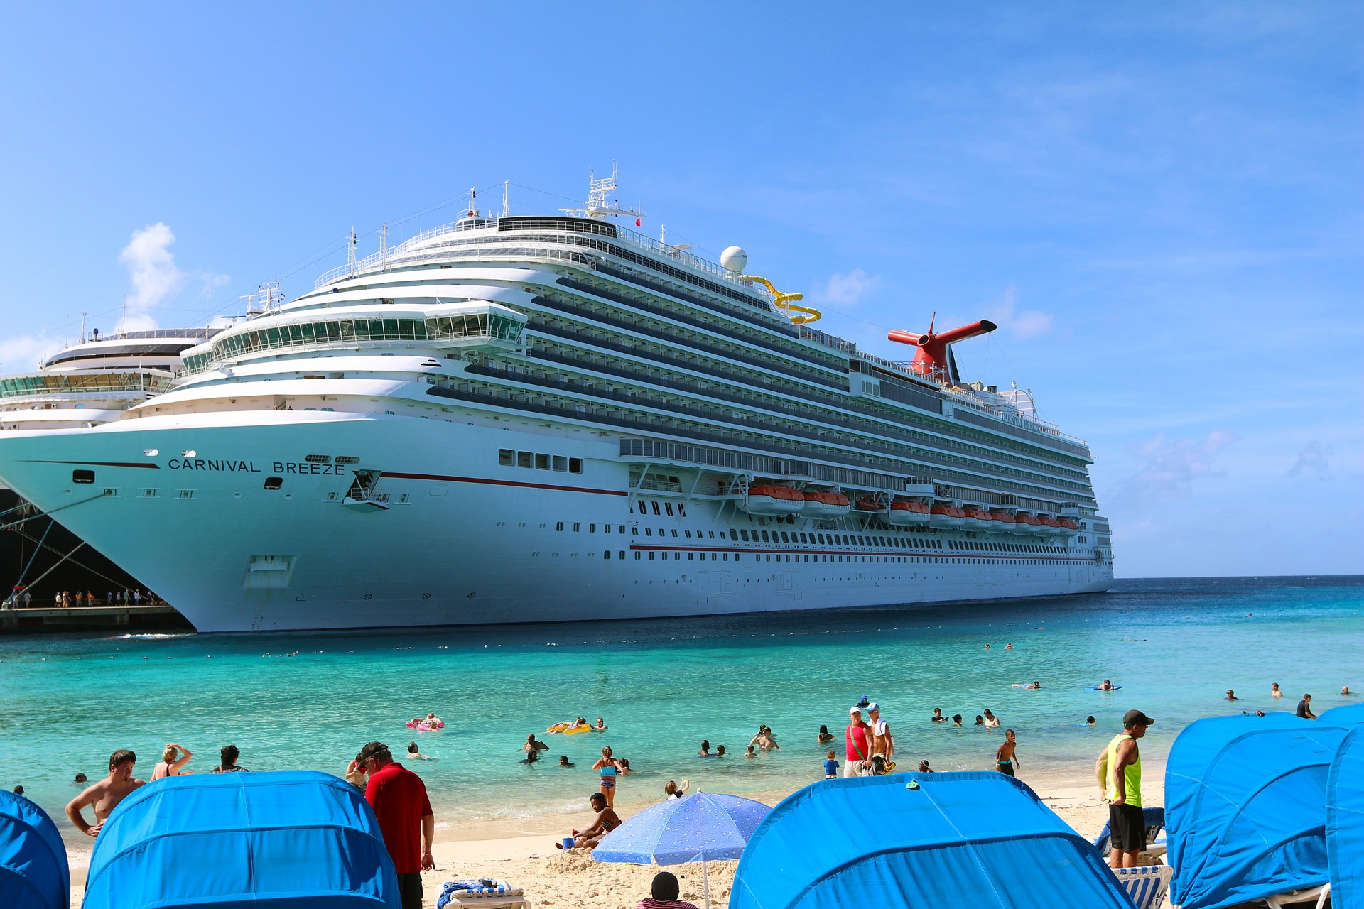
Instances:
[[[431,841],[435,814],[421,777],[393,759],[389,745],[371,741],[360,748],[360,762],[370,775],[364,799],[374,808],[383,845],[398,872],[402,909],[421,909],[421,872],[435,868]]]

